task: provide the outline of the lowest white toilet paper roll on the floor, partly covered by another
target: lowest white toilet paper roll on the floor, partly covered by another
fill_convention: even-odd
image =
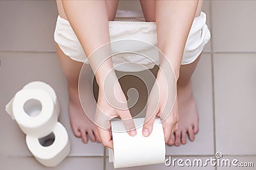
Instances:
[[[43,140],[42,144],[46,146],[40,143],[41,140]],[[41,140],[34,136],[26,136],[26,143],[30,152],[44,166],[57,166],[70,152],[68,133],[60,122],[55,125],[52,135],[50,134]],[[51,145],[49,145],[49,140],[53,141]],[[49,146],[47,146],[47,143]]]

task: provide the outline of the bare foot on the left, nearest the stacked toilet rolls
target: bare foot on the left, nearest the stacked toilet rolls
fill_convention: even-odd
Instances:
[[[94,99],[88,99],[94,100]],[[92,102],[93,103],[93,102]],[[86,116],[79,101],[77,89],[69,90],[69,118],[74,135],[88,143],[88,136],[92,142],[100,142],[95,124]],[[95,110],[92,106],[92,111]],[[93,112],[94,113],[94,112]],[[88,136],[87,136],[88,135]]]

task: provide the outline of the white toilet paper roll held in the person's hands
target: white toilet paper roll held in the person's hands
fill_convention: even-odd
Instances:
[[[129,136],[122,120],[111,122],[113,150],[109,149],[109,162],[115,168],[160,164],[165,159],[163,126],[156,118],[153,131],[148,137],[142,135],[144,118],[134,118],[137,134]]]

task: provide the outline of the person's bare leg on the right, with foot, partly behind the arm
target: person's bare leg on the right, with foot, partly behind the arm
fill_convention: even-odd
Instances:
[[[156,20],[156,1],[141,0],[141,8],[146,21]],[[203,1],[199,1],[195,17],[200,16]],[[179,146],[180,143],[185,144],[186,134],[189,139],[194,141],[195,134],[198,132],[198,111],[192,92],[191,76],[195,71],[196,65],[200,59],[198,58],[191,64],[180,66],[180,76],[177,81],[177,99],[179,106],[179,125],[177,131],[172,134],[168,145]]]

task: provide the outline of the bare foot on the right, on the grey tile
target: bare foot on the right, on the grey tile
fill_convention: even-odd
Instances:
[[[168,145],[180,146],[186,144],[186,135],[190,141],[195,140],[195,134],[198,133],[198,112],[192,92],[191,81],[186,87],[177,87],[177,98],[179,107],[179,125],[177,131],[171,136]]]

